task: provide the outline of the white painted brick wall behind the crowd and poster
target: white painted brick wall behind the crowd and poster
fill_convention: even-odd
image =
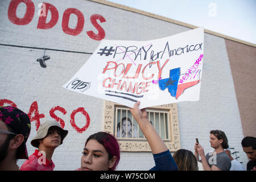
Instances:
[[[46,47],[92,53],[100,42],[90,39],[86,31],[96,29],[90,23],[90,16],[100,14],[106,22],[99,23],[104,28],[105,39],[112,40],[151,40],[174,35],[189,28],[147,16],[131,13],[99,3],[84,0],[49,1],[59,12],[57,24],[48,30],[37,29],[39,0],[33,1],[35,15],[24,26],[10,22],[7,10],[10,0],[0,3],[0,43],[19,46]],[[63,12],[76,8],[84,14],[85,25],[81,34],[67,35],[62,31]],[[18,6],[17,15],[22,18],[26,6]],[[76,21],[71,20],[71,24]],[[71,25],[70,24],[70,25]],[[72,26],[72,25],[71,25]],[[32,102],[37,101],[39,114],[44,114],[44,122],[52,119],[49,110],[55,106],[64,107],[67,114],[59,111],[55,114],[64,120],[69,130],[64,143],[56,148],[53,155],[55,170],[74,170],[80,167],[81,152],[86,138],[102,130],[104,101],[99,98],[70,92],[61,87],[88,60],[88,54],[46,51],[51,59],[46,61],[47,68],[40,67],[36,61],[43,56],[43,50],[0,46],[0,99],[13,101],[17,107],[28,112]],[[97,64],[97,63],[96,63]],[[225,41],[217,36],[205,34],[203,80],[201,82],[200,101],[178,104],[181,148],[193,151],[195,138],[199,138],[205,153],[212,150],[209,144],[209,131],[220,129],[229,139],[230,147],[239,151],[238,159],[246,168],[247,157],[242,151],[243,138],[241,119],[238,110],[233,78]],[[71,126],[70,115],[78,107],[84,107],[90,116],[90,125],[83,133],[77,133]],[[76,124],[85,125],[85,118],[76,115]],[[32,122],[30,137],[27,141],[28,154],[35,148],[30,145],[36,135],[35,122]],[[24,160],[19,160],[19,166]],[[148,170],[154,166],[151,152],[121,152],[118,170]]]

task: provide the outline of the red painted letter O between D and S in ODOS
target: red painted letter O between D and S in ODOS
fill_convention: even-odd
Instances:
[[[72,29],[68,27],[68,22],[71,14],[75,14],[77,16],[77,24],[76,28]],[[62,30],[69,35],[79,35],[82,32],[82,28],[84,28],[84,15],[81,11],[75,8],[69,8],[64,11],[62,18]]]

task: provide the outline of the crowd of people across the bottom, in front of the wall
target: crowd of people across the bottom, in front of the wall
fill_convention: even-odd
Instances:
[[[162,138],[148,120],[146,109],[139,109],[140,102],[130,108],[131,114],[150,144],[155,166],[151,171],[242,171],[241,163],[230,155],[228,139],[223,131],[210,131],[210,146],[214,149],[205,155],[199,142],[195,143],[195,153],[180,149],[174,155],[168,150]],[[30,118],[22,110],[13,106],[0,107],[0,170],[5,171],[52,171],[55,164],[52,156],[68,131],[56,121],[47,121],[40,125],[31,145],[36,148],[28,157],[26,142],[30,135]],[[242,139],[242,148],[250,161],[247,171],[256,170],[256,138]],[[201,159],[200,159],[201,158]],[[21,167],[18,159],[27,159]],[[98,132],[89,136],[84,145],[81,167],[77,171],[114,171],[120,160],[117,139],[108,133]],[[75,169],[74,169],[75,170]]]

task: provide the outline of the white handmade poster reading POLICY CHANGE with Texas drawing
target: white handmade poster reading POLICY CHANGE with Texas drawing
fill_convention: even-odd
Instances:
[[[64,88],[140,108],[198,101],[204,28],[148,41],[102,40]]]

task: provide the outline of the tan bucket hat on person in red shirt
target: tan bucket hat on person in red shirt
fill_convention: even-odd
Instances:
[[[44,123],[42,123],[39,126],[38,132],[36,134],[36,136],[31,140],[31,144],[33,147],[38,148],[39,147],[39,139],[43,139],[44,137],[46,137],[48,130],[50,127],[52,126],[57,126],[61,129],[61,141],[60,144],[63,143],[64,138],[67,136],[68,134],[68,130],[63,130],[60,127],[60,124],[57,121],[46,121]]]

